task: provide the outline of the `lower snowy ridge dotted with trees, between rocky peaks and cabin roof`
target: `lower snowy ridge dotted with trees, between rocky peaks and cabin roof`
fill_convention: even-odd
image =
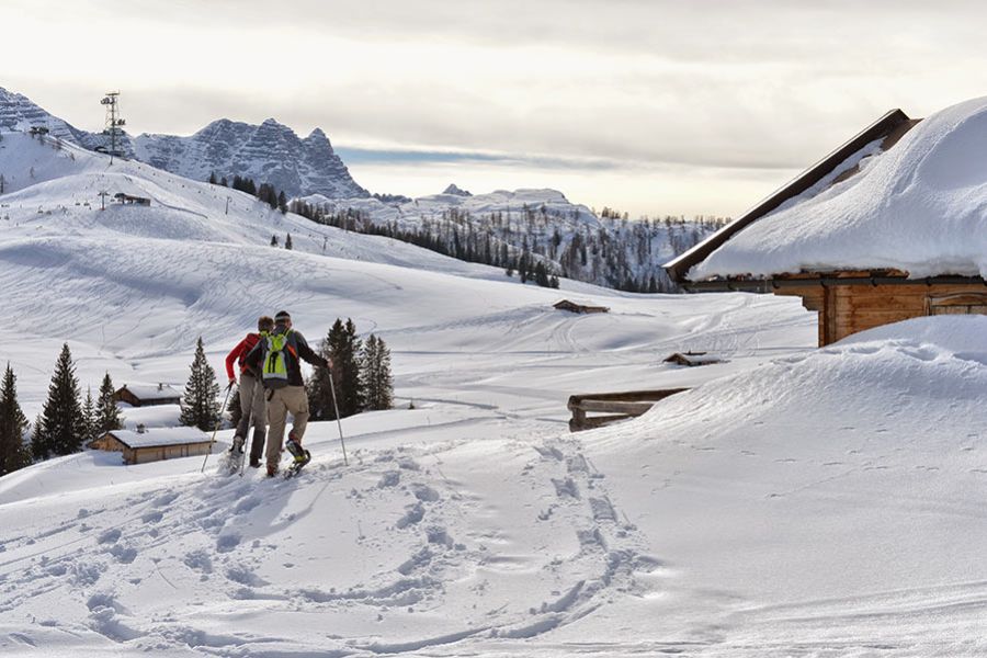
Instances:
[[[318,220],[399,236],[463,260],[518,270],[527,258],[568,279],[651,293],[677,290],[660,263],[723,226],[713,218],[598,216],[551,189],[470,194],[450,185],[442,194],[404,202],[315,194],[294,207]]]

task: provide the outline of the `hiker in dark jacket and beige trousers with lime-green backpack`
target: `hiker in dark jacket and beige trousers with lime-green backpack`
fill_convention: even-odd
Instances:
[[[308,423],[308,395],[302,381],[299,359],[320,367],[332,366],[331,361],[322,359],[308,347],[304,336],[292,329],[292,316],[286,310],[279,310],[274,316],[274,331],[247,355],[247,365],[261,373],[268,400],[268,423],[271,426],[266,452],[268,477],[277,473],[288,411],[294,421],[285,447],[296,462],[303,465],[307,462],[302,436]]]

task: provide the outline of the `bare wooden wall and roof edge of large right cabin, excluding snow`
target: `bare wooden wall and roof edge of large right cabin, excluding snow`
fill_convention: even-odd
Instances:
[[[797,272],[758,276],[691,276],[694,265],[721,248],[729,249],[729,240],[772,212],[785,211],[787,222],[797,222],[802,200],[856,175],[864,157],[875,151],[882,157],[920,121],[900,110],[888,112],[745,215],[666,263],[669,276],[690,292],[746,291],[802,297],[805,308],[818,311],[820,347],[858,331],[920,316],[987,314],[987,282],[968,271],[918,279],[901,269],[880,268],[861,259],[853,268],[805,266]],[[875,145],[880,146],[875,149]]]

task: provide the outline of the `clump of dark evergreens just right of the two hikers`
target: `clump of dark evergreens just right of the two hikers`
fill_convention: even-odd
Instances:
[[[389,409],[394,404],[390,350],[373,333],[361,340],[352,319],[337,318],[319,347],[319,354],[332,361],[332,381],[324,368],[316,368],[305,386],[313,420],[332,420],[336,407],[331,385],[336,387],[339,416]]]

